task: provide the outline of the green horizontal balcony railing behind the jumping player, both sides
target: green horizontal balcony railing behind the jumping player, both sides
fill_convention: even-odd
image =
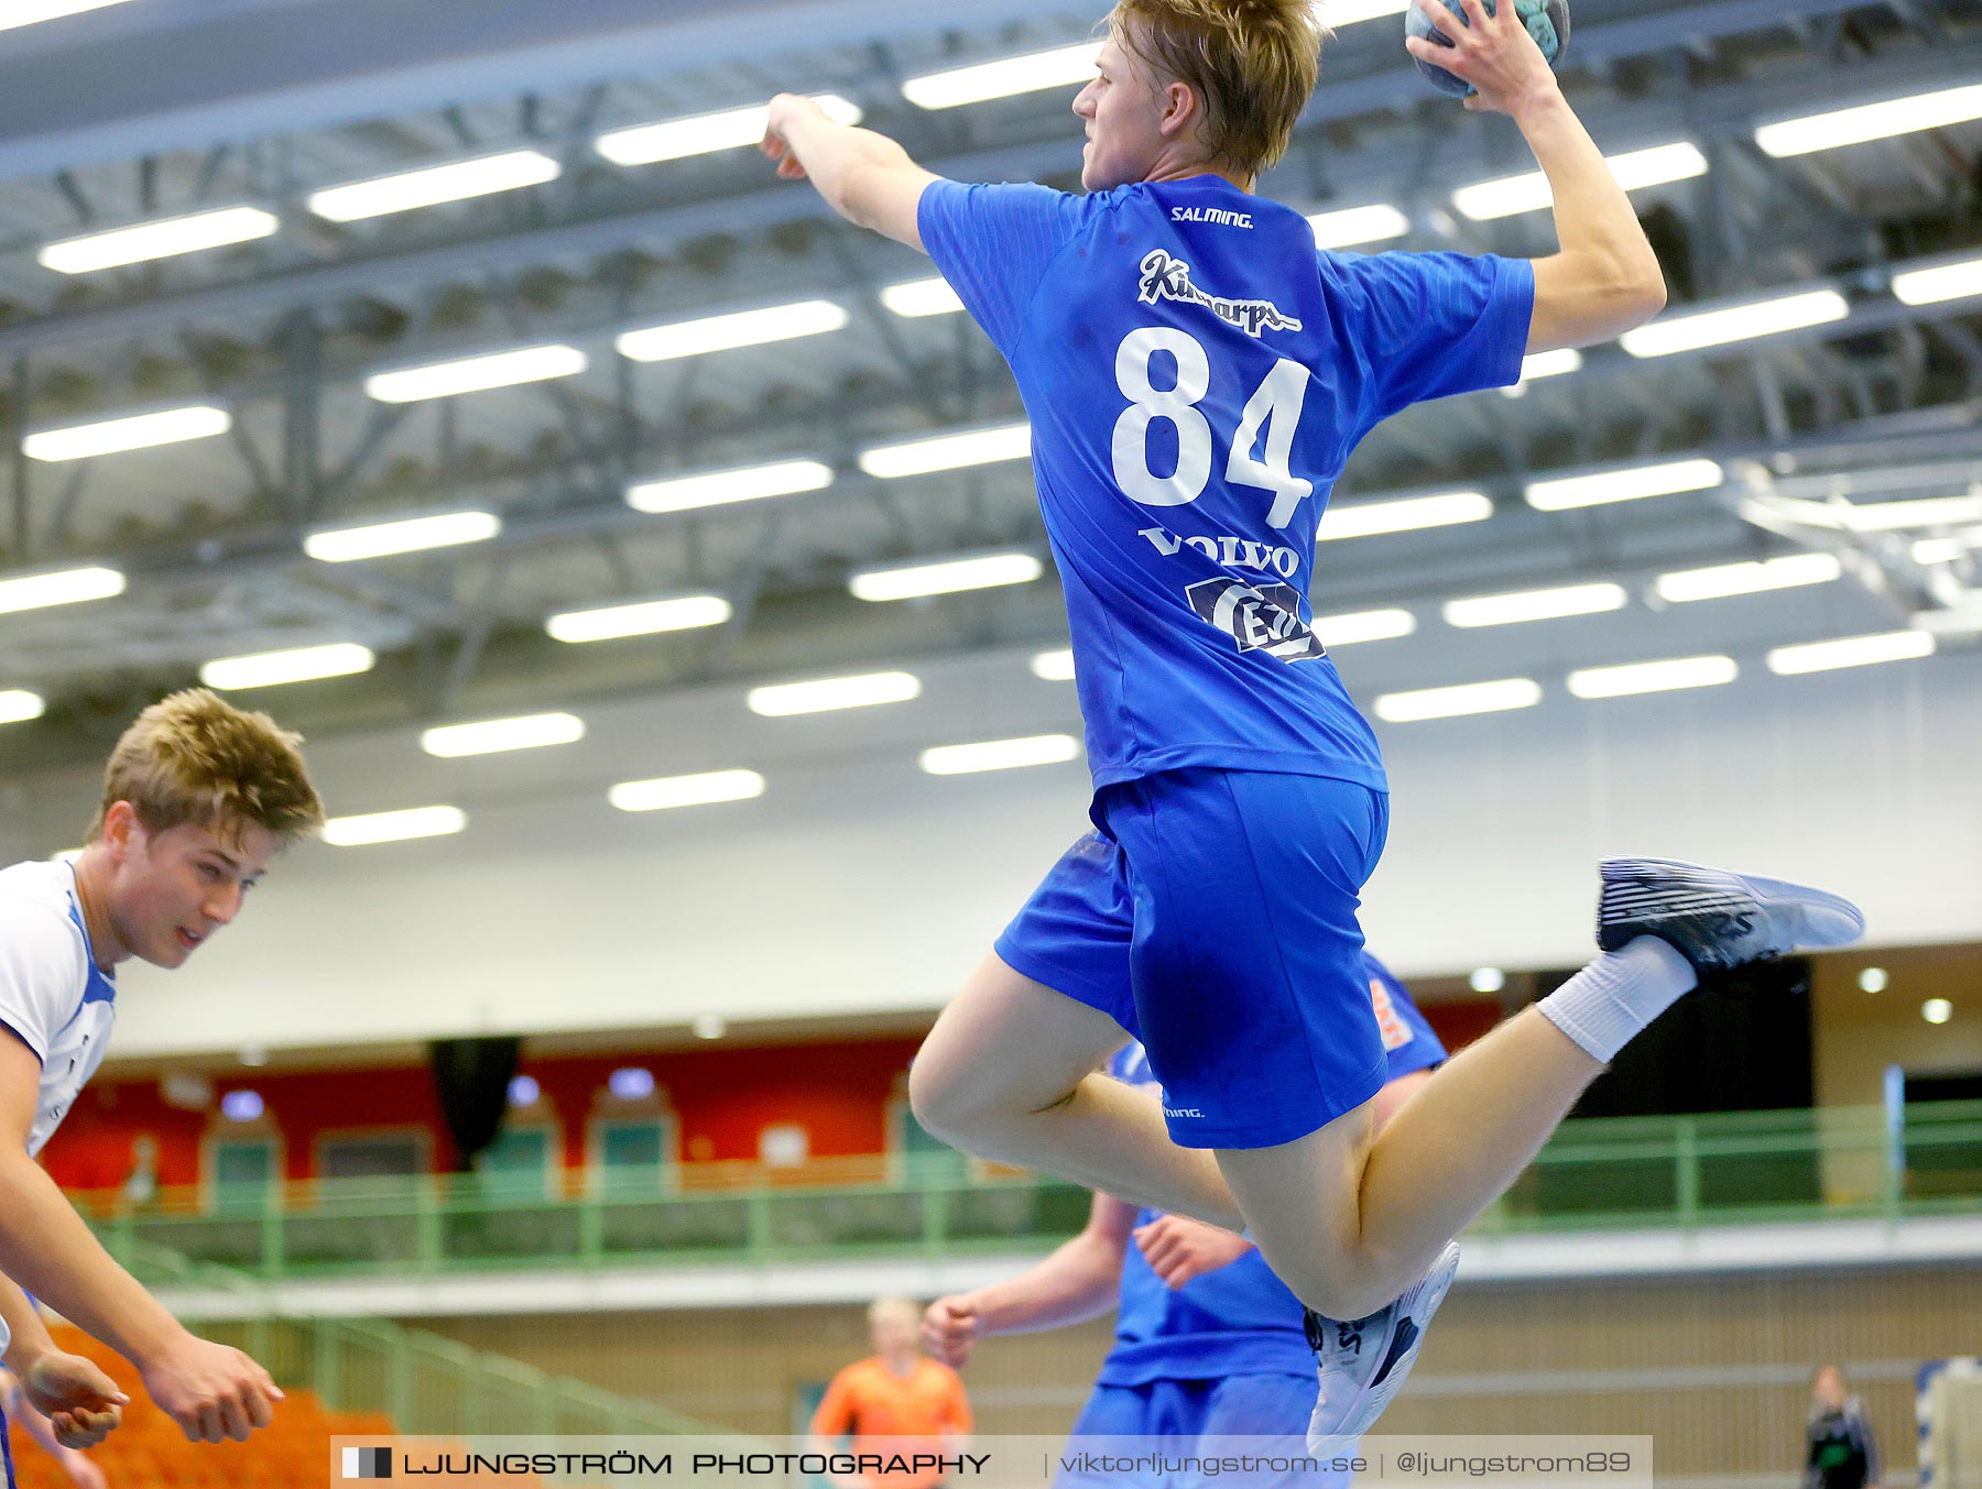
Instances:
[[[682,1164],[285,1184],[252,1196],[85,1198],[113,1251],[166,1245],[258,1279],[545,1265],[789,1263],[1029,1249],[1080,1230],[1086,1192],[959,1154],[803,1170]],[[1485,1232],[1697,1228],[1982,1208],[1982,1103],[1831,1107],[1562,1127]]]

